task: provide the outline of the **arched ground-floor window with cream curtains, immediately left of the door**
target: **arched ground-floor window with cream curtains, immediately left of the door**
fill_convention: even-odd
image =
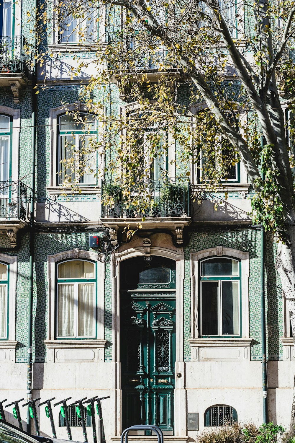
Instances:
[[[57,264],[57,338],[96,337],[96,265]]]

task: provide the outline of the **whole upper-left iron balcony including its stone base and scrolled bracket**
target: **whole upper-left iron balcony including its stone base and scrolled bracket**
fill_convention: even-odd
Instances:
[[[19,103],[19,89],[28,83],[30,59],[23,36],[0,36],[0,86],[11,87],[15,103]]]

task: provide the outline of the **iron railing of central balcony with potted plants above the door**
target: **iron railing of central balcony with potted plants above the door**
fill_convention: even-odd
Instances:
[[[145,179],[130,186],[105,179],[102,183],[103,218],[189,217],[190,183],[187,178]]]

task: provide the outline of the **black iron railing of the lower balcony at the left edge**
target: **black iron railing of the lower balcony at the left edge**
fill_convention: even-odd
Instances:
[[[22,182],[0,182],[0,219],[27,220],[29,188]]]

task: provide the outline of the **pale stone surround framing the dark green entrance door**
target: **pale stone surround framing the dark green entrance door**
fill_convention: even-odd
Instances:
[[[161,256],[163,258],[169,258],[176,262],[176,362],[175,369],[179,371],[179,366],[183,365],[184,360],[184,324],[183,324],[183,300],[184,300],[184,250],[180,248],[178,251],[174,251],[168,248],[161,248],[152,246],[150,249],[152,256]],[[112,281],[112,324],[113,324],[113,359],[114,361],[120,361],[120,318],[119,318],[119,264],[123,260],[128,260],[133,257],[144,255],[143,247],[130,248],[127,251],[117,252],[114,254],[111,262],[111,281]],[[121,389],[120,377],[116,377],[113,382],[114,389]],[[178,383],[176,378],[176,384]],[[181,384],[181,381],[180,381]],[[184,391],[179,386],[179,391]],[[181,399],[181,404],[178,401]],[[175,420],[175,435],[184,435],[186,432],[186,417],[183,413],[184,411],[184,396],[175,396],[174,401],[174,420]],[[117,426],[117,435],[122,431],[120,426],[122,426],[122,421],[120,417],[122,416],[122,402],[118,404],[118,408],[115,412],[117,415],[115,417],[115,422],[119,422]],[[119,432],[118,432],[119,431]]]

